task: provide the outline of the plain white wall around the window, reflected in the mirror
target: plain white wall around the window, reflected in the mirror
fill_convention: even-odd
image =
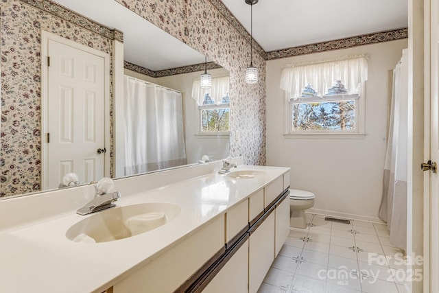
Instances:
[[[146,80],[154,84],[175,89],[183,93],[185,103],[185,139],[187,163],[196,163],[207,154],[214,160],[225,159],[229,154],[229,137],[222,136],[200,136],[198,135],[198,115],[197,104],[192,96],[192,82],[194,78],[200,78],[201,71],[171,75],[164,78],[151,78],[147,75],[139,74],[134,71],[125,70],[126,75]],[[226,69],[211,69],[209,73],[212,77],[228,75]],[[233,98],[233,97],[230,97]]]

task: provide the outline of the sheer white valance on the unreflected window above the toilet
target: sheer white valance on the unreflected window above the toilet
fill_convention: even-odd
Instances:
[[[341,81],[348,94],[358,93],[358,85],[368,79],[367,56],[344,56],[335,60],[299,63],[285,67],[280,87],[298,99],[310,85],[322,97],[334,82]]]

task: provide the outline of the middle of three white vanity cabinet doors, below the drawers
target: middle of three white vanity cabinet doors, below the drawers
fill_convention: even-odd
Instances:
[[[274,213],[252,235],[248,249],[249,292],[257,292],[274,260]]]

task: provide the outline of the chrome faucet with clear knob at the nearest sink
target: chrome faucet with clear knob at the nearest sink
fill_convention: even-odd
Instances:
[[[84,207],[78,209],[76,213],[79,215],[88,215],[89,213],[94,213],[95,211],[102,211],[103,209],[108,209],[110,207],[115,207],[116,204],[112,202],[117,201],[117,198],[121,197],[119,191],[108,193],[114,186],[111,178],[104,177],[95,185],[95,198],[84,205]]]

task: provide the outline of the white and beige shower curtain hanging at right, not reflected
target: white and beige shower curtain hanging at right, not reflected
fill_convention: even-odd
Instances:
[[[393,71],[392,106],[379,218],[387,222],[390,243],[407,248],[407,49]]]

